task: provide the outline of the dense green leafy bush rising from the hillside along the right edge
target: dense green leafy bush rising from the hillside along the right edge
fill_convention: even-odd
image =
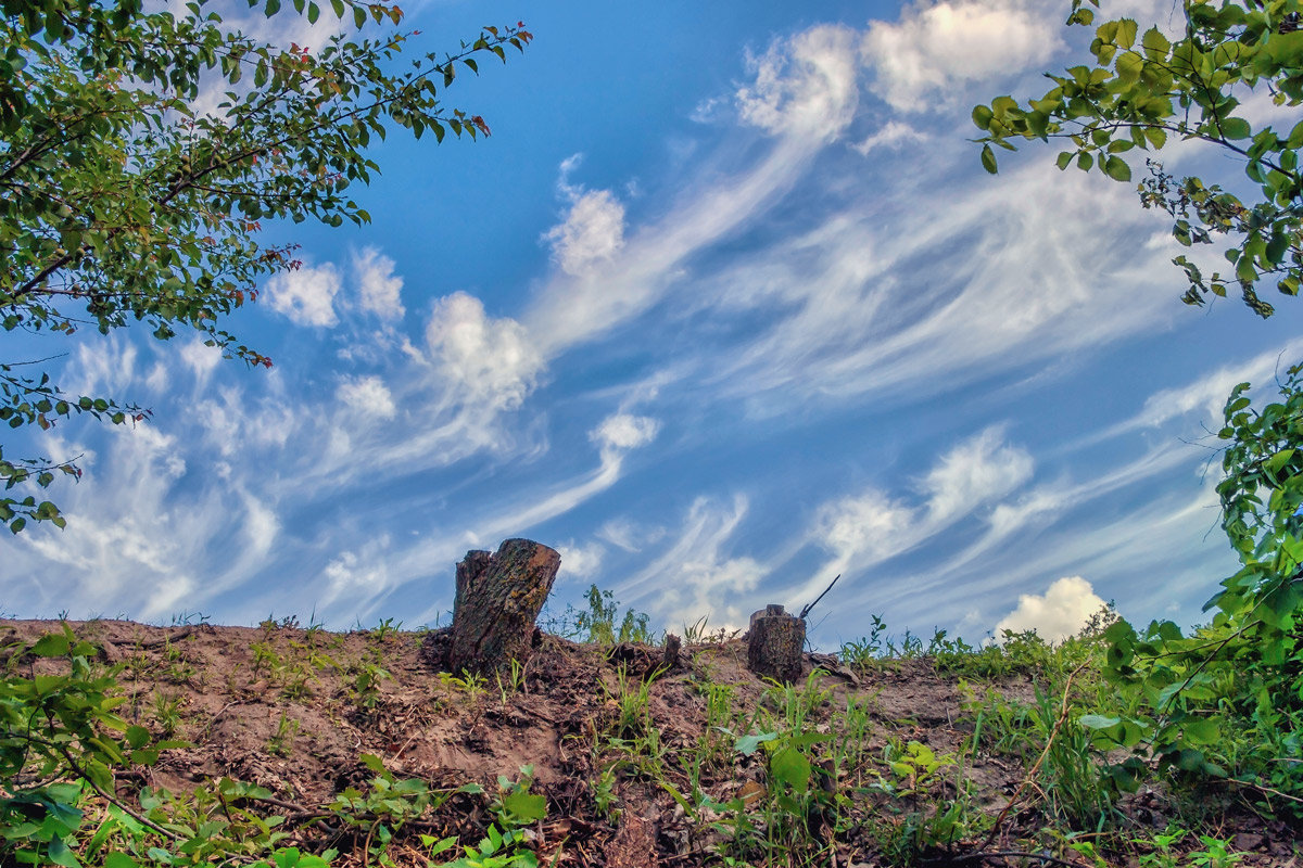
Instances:
[[[1222,527],[1240,570],[1208,603],[1212,622],[1105,631],[1106,675],[1127,712],[1088,726],[1132,755],[1110,766],[1131,789],[1145,759],[1234,781],[1277,812],[1303,817],[1303,368],[1281,400],[1255,409],[1240,383],[1226,402]]]

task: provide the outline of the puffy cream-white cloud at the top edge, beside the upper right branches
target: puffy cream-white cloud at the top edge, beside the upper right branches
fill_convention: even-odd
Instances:
[[[950,102],[958,83],[1045,64],[1059,47],[1061,14],[1031,0],[919,0],[896,22],[874,21],[864,36],[873,91],[902,112]]]

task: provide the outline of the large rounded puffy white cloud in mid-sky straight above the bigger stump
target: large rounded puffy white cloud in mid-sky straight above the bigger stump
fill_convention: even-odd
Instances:
[[[520,323],[487,316],[483,303],[463,292],[435,302],[425,338],[450,384],[491,409],[520,406],[543,367]]]

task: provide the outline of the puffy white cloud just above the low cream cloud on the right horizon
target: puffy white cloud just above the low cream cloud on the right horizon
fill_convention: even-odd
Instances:
[[[971,511],[1010,493],[1032,478],[1032,457],[1005,444],[999,428],[988,428],[955,446],[928,474],[928,508],[934,519]]]

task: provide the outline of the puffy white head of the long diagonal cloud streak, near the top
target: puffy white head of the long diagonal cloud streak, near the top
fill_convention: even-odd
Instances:
[[[859,104],[856,34],[823,25],[773,44],[752,60],[754,82],[739,88],[743,121],[767,133],[837,138]]]

